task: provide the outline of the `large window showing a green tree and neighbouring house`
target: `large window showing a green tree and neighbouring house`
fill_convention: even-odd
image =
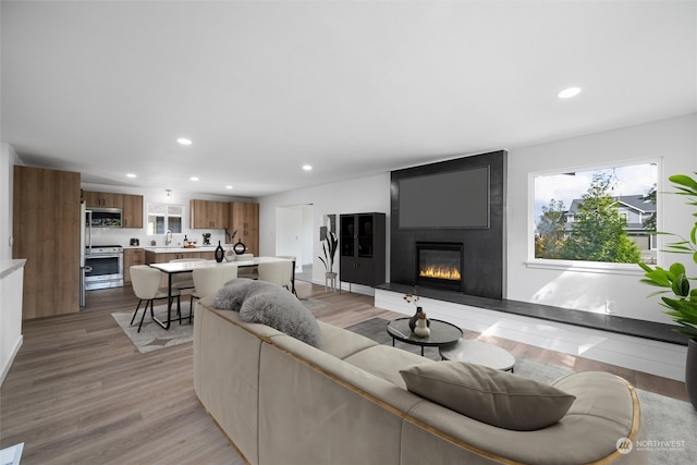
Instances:
[[[534,258],[656,264],[659,164],[534,175]]]

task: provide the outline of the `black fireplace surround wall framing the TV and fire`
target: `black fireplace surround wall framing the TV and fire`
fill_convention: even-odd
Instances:
[[[416,282],[416,242],[462,242],[464,248],[464,293],[489,298],[503,298],[505,264],[505,150],[473,155],[438,163],[392,171],[390,216],[390,280],[414,285]],[[489,167],[490,211],[486,229],[400,229],[400,183],[412,176],[444,171]],[[449,208],[458,208],[466,198],[447,198]]]

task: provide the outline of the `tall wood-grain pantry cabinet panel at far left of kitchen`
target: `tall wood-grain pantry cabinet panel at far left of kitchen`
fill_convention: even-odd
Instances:
[[[26,258],[22,318],[80,311],[80,173],[14,167],[13,258]]]

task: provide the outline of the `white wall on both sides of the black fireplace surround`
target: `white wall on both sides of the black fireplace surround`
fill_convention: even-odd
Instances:
[[[528,204],[530,173],[614,164],[628,160],[662,158],[663,179],[675,173],[697,171],[697,114],[624,127],[602,133],[509,149],[508,172],[508,260],[505,296],[510,299],[548,304],[587,311],[604,311],[606,301],[613,301],[616,315],[649,321],[670,322],[656,299],[647,299],[650,289],[640,284],[641,272],[628,267],[625,272],[590,272],[578,270],[539,269],[527,266],[533,234]],[[491,150],[500,147],[491,147]],[[665,186],[668,188],[670,186]],[[661,186],[659,186],[659,191]],[[688,233],[692,211],[684,198],[661,196],[662,213],[659,229]],[[319,225],[322,213],[362,211],[390,212],[390,173],[360,180],[291,191],[259,199],[260,252],[274,254],[277,206],[314,204],[315,260],[313,281],[323,283],[323,267],[317,255],[321,252]],[[388,218],[388,229],[389,229]],[[389,244],[389,231],[388,231]],[[664,255],[664,254],[660,254]],[[663,262],[681,257],[663,258]],[[659,257],[661,259],[661,257]],[[389,264],[389,249],[388,249]],[[697,271],[693,273],[696,276]],[[389,280],[389,265],[388,265]],[[365,291],[365,290],[364,290]],[[369,291],[368,291],[369,292]]]

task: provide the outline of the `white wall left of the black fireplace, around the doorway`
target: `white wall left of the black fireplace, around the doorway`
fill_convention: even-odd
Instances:
[[[386,213],[388,215],[387,234],[389,238],[390,173],[383,173],[374,176],[291,191],[283,194],[259,198],[260,255],[279,255],[276,250],[277,208],[298,204],[313,204],[314,206],[314,252],[311,254],[311,264],[313,281],[316,283],[325,283],[325,266],[319,260],[319,258],[317,258],[321,254],[321,243],[319,242],[319,227],[321,225],[322,215],[335,213],[337,216],[339,216],[342,213],[362,213],[372,211]],[[339,221],[339,217],[337,217],[337,221]],[[337,262],[339,262],[339,257],[337,257]],[[370,287],[354,285],[352,286],[352,289],[357,292],[368,294],[372,293],[372,290]]]

